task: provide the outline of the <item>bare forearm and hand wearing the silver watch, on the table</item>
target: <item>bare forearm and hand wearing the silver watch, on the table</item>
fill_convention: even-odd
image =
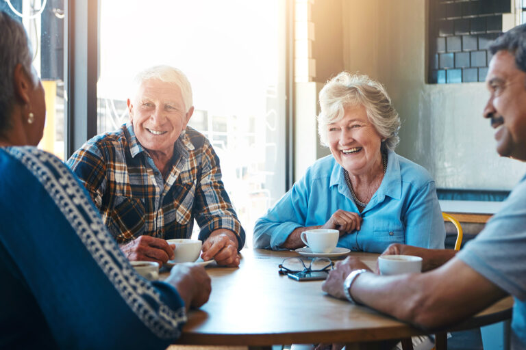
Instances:
[[[345,299],[343,282],[354,269],[368,269],[357,258],[336,264],[323,283],[323,291]],[[351,286],[361,304],[390,314],[423,329],[434,329],[466,319],[506,296],[498,286],[451,258],[427,273],[380,276],[362,273]]]

